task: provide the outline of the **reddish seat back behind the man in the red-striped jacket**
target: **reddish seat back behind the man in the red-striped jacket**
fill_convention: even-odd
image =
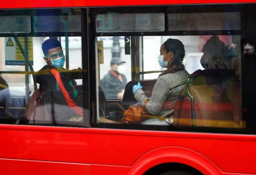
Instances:
[[[43,104],[39,89],[36,89],[31,96],[28,105],[27,119],[30,122],[36,120],[50,120],[50,116],[48,115],[46,106]]]

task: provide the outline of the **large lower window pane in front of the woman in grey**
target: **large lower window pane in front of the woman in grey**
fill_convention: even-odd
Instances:
[[[232,38],[236,38],[237,40],[233,41]],[[102,86],[104,76],[109,71],[111,60],[114,60],[111,58],[112,48],[110,46],[111,42],[113,43],[111,39],[110,37],[98,38],[106,46],[103,48],[104,64],[100,65],[100,86]],[[162,43],[162,41],[168,41],[168,39],[173,42],[169,44]],[[171,87],[165,87],[165,85],[179,85],[181,81],[177,79],[177,75],[172,76],[175,73],[168,73],[168,70],[171,68],[168,66],[169,62],[167,62],[167,69],[166,66],[162,66],[163,68],[161,68],[161,65],[164,64],[162,62],[160,64],[159,62],[160,56],[161,58],[164,56],[163,61],[166,62],[177,59],[183,53],[175,50],[182,48],[181,46],[175,45],[176,40],[182,42],[183,46],[181,46],[184,47],[182,64],[189,73],[188,75],[190,75],[184,78],[184,84],[182,86],[178,86],[179,91],[177,93],[174,91],[177,87],[172,89]],[[138,82],[128,79],[122,103],[120,103],[121,107],[118,104],[107,104],[109,113],[106,119],[108,120],[103,121],[103,119],[100,119],[100,122],[122,123],[122,121],[127,121],[123,118],[124,111],[132,107],[132,105],[142,105],[145,99],[149,99],[146,102],[144,115],[141,115],[140,120],[131,120],[126,123],[141,123],[142,125],[244,127],[241,118],[240,71],[237,70],[240,68],[240,56],[238,55],[240,51],[237,47],[239,41],[240,36],[144,36],[142,46],[143,57],[124,55],[124,52],[121,52],[121,59],[126,61],[125,66],[128,70],[130,70],[130,67],[127,66],[127,60],[131,60],[131,62],[139,62],[144,72],[162,69],[163,73],[145,74],[143,76],[144,79],[139,80],[142,87],[138,85]],[[120,47],[123,48],[124,46]],[[167,72],[166,75],[163,75],[164,72]],[[129,76],[131,73],[132,71],[126,71],[124,74]],[[167,78],[168,76],[172,78]],[[163,82],[159,82],[160,80]],[[102,89],[106,98],[111,98],[113,102],[115,101],[114,98],[117,99],[117,95],[108,98],[107,94],[116,94],[114,81],[111,81],[110,85],[111,88],[108,91],[104,91],[104,88]],[[137,94],[136,90],[135,93],[133,92],[134,85],[138,86],[139,94]],[[168,93],[166,94],[169,96],[161,97],[164,89],[167,89],[166,91]],[[174,96],[176,97],[175,100]],[[157,104],[159,101],[157,98],[160,97],[164,101],[159,109],[159,107],[152,104]],[[192,111],[190,106],[193,106]]]

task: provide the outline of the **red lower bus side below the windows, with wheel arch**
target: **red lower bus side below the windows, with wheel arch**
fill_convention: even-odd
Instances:
[[[71,165],[92,175],[141,175],[167,162],[190,165],[204,175],[256,174],[254,135],[22,125],[0,125],[0,130],[1,174],[18,173],[11,166],[15,162],[28,168],[26,175],[35,173],[30,168],[70,174]]]

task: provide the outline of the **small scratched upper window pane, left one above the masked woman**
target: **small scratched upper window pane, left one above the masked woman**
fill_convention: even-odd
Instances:
[[[97,32],[164,31],[164,13],[98,14]]]

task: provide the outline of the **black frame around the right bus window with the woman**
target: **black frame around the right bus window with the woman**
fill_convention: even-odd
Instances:
[[[193,9],[193,7],[197,6],[197,4],[192,5],[178,5],[180,6],[183,11],[175,12],[174,13],[188,13],[186,9],[184,10],[184,7],[189,8],[189,13],[195,13],[195,12],[240,12],[240,30],[201,30],[201,31],[195,31],[195,30],[180,30],[180,31],[168,31],[168,18],[167,15],[170,14],[170,9],[175,6],[157,6],[164,10],[154,10],[156,6],[135,6],[135,7],[96,7],[93,8],[92,11],[96,14],[107,14],[107,12],[112,13],[120,13],[120,14],[126,14],[129,13],[157,13],[157,12],[163,12],[165,14],[165,31],[164,32],[96,32],[96,37],[104,37],[104,36],[212,36],[212,35],[227,35],[227,36],[234,36],[234,35],[240,35],[241,38],[244,35],[245,28],[244,28],[244,21],[242,19],[244,14],[244,4],[205,4],[200,5],[204,7],[233,7],[233,8],[227,8],[228,10],[207,10],[207,8],[201,8],[202,11],[198,11],[198,9]],[[170,9],[168,9],[168,7]],[[176,6],[177,7],[177,6]],[[137,8],[137,9],[135,9]],[[213,8],[212,8],[213,9]],[[97,13],[97,11],[99,13]],[[105,13],[104,13],[105,12]],[[91,18],[91,22],[94,23],[93,27],[96,30],[96,18]],[[92,28],[89,29],[89,31],[92,30]],[[92,43],[89,43],[92,44]],[[96,57],[94,58],[96,59]],[[242,56],[241,56],[242,60]],[[96,66],[96,65],[95,65]],[[241,63],[241,71],[243,70],[243,62]],[[242,74],[243,76],[243,74]],[[242,77],[243,79],[243,77]],[[241,87],[246,86],[246,82],[241,82]],[[244,105],[244,92],[243,89],[241,90],[241,96],[242,96],[242,106]],[[113,99],[115,100],[115,99]],[[242,120],[244,121],[244,111],[242,111]],[[189,131],[189,132],[207,132],[207,133],[233,133],[233,134],[249,134],[246,131],[246,128],[220,128],[220,127],[181,127],[181,126],[157,126],[157,125],[140,125],[140,124],[113,124],[113,123],[97,123],[92,122],[92,127],[97,128],[110,128],[110,129],[139,129],[139,130],[154,130],[154,131]]]

